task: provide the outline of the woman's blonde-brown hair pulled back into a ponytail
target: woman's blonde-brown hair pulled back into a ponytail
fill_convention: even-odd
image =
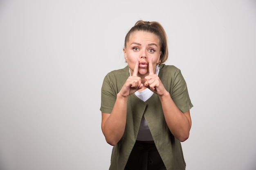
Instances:
[[[126,43],[129,41],[130,35],[135,31],[146,31],[149,33],[153,33],[159,37],[160,46],[161,46],[161,56],[160,63],[164,63],[168,59],[168,45],[167,45],[167,35],[164,31],[163,26],[159,22],[148,22],[139,20],[135,23],[135,25],[128,31],[124,40],[124,47],[126,47]]]

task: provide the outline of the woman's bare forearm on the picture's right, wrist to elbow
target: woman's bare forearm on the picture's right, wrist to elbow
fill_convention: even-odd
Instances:
[[[159,96],[159,98],[168,128],[177,139],[184,142],[189,137],[191,122],[175,105],[168,92],[163,96]]]

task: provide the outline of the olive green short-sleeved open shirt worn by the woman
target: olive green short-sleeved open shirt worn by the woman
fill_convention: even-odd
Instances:
[[[101,112],[111,113],[117,93],[121,90],[129,76],[128,66],[123,69],[114,70],[105,76],[101,88]],[[158,76],[180,111],[183,113],[189,111],[193,105],[180,69],[173,65],[161,64],[159,65]],[[184,170],[186,163],[181,143],[168,129],[164,119],[162,104],[155,93],[145,102],[140,100],[135,94],[129,96],[124,135],[117,145],[113,146],[109,169],[124,170],[135,144],[143,115],[166,169]]]

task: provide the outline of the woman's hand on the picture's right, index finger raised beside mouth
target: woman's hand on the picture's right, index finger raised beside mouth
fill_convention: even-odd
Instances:
[[[157,74],[153,70],[153,59],[151,58],[148,62],[148,72],[149,75],[145,77],[144,86],[149,88],[152,92],[158,94],[159,96],[164,95],[167,91]]]

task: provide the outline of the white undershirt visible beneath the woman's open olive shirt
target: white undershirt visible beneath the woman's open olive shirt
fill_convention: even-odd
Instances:
[[[159,66],[156,66],[156,71],[155,72],[158,75]],[[148,88],[144,89],[141,92],[138,92],[138,91],[135,92],[135,95],[144,102],[146,100],[148,100],[153,94],[154,94],[154,92],[152,92]],[[139,132],[138,132],[138,135],[137,135],[137,140],[140,140],[140,141],[152,141],[153,140],[153,137],[150,133],[148,124],[147,124],[146,119],[144,118],[144,116],[142,116],[142,118],[141,118],[141,122],[140,122],[140,125],[139,125]]]

